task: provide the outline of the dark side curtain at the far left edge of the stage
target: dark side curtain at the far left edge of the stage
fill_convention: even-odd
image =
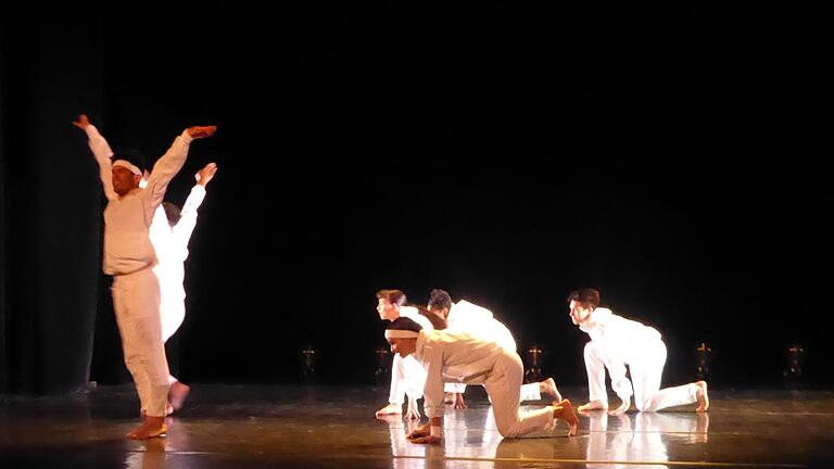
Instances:
[[[0,390],[68,392],[90,371],[102,205],[66,116],[79,103],[101,112],[101,30],[89,17],[1,16]]]

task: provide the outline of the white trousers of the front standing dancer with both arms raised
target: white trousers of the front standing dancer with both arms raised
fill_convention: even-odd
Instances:
[[[122,335],[125,365],[134,377],[141,409],[164,417],[168,402],[168,362],[162,341],[160,283],[153,270],[113,277],[113,309]]]

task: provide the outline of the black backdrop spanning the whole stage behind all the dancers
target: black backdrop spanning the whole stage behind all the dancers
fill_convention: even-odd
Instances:
[[[168,191],[217,162],[185,381],[295,382],[312,346],[320,382],[369,382],[374,292],[444,288],[581,384],[565,297],[596,287],[669,383],[700,341],[718,383],[781,383],[794,342],[831,383],[829,7],[280,8],[3,15],[4,390],[126,380],[79,112],[152,157],[219,126]]]

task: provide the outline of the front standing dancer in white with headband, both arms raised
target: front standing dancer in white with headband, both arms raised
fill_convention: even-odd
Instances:
[[[179,172],[194,139],[211,137],[215,126],[189,127],[159,159],[144,189],[142,172],[118,157],[98,129],[81,114],[73,123],[87,132],[90,150],[108,198],[104,208],[104,274],[113,276],[113,308],[116,314],[125,365],[134,377],[143,410],[143,422],[127,434],[129,439],[164,435],[168,397],[168,364],[162,342],[160,283],[152,267],[156,254],[149,228],[170,179]]]

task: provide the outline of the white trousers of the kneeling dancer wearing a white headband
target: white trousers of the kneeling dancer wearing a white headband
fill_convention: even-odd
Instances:
[[[539,430],[552,430],[555,427],[551,407],[523,414],[519,410],[523,378],[525,367],[521,365],[521,357],[515,352],[505,351],[498,356],[483,383],[492,402],[495,427],[504,438],[516,438]]]

